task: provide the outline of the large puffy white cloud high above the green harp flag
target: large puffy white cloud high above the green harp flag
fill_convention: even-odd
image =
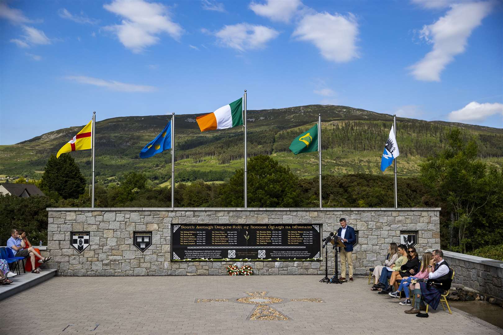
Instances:
[[[343,63],[358,57],[357,35],[358,23],[353,14],[316,13],[304,16],[292,36],[314,44],[325,59]]]

